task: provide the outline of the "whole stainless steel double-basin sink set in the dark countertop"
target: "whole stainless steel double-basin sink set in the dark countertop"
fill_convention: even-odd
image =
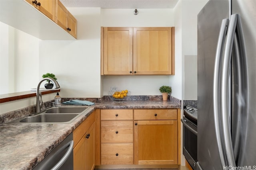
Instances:
[[[28,115],[10,123],[71,123],[89,107],[52,107],[36,115]]]

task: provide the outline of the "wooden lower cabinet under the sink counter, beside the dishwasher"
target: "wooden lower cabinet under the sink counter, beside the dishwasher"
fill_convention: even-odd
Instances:
[[[74,170],[93,170],[95,166],[94,113],[74,130],[73,140]]]

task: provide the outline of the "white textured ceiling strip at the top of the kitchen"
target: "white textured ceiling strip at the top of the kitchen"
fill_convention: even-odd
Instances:
[[[66,7],[174,8],[178,0],[60,0]]]

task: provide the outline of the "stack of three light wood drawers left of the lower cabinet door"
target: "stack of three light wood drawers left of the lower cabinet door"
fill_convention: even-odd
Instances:
[[[133,164],[132,109],[101,110],[101,164]]]

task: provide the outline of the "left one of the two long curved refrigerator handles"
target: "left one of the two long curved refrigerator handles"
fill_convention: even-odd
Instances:
[[[214,64],[214,79],[213,79],[213,109],[214,109],[214,126],[216,132],[216,140],[218,145],[218,151],[220,154],[220,161],[222,167],[226,165],[226,157],[224,156],[224,146],[222,133],[221,133],[221,125],[220,125],[220,67],[223,55],[223,47],[226,38],[226,32],[228,27],[228,18],[223,19],[220,26],[220,33],[218,37],[218,44],[216,48],[216,57]]]

